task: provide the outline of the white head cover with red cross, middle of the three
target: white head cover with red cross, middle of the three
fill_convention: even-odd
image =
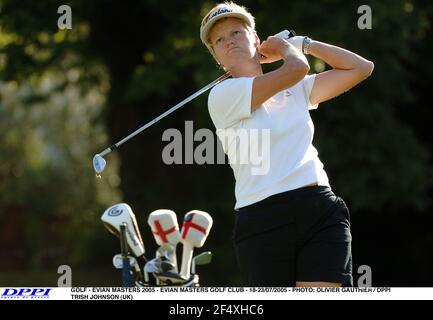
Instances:
[[[179,224],[174,211],[169,209],[155,210],[149,215],[147,223],[152,229],[158,245],[170,243],[176,246],[180,242]]]

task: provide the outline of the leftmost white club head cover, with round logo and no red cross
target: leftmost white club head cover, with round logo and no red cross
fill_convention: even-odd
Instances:
[[[109,207],[102,214],[102,222],[105,227],[116,236],[120,235],[120,225],[126,223],[126,240],[129,248],[136,257],[144,255],[144,245],[138,229],[135,214],[131,207],[126,203],[118,203]]]

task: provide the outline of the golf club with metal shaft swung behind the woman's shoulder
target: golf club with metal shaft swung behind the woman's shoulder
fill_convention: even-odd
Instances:
[[[93,168],[97,174],[97,176],[100,177],[100,174],[102,173],[102,171],[104,171],[105,165],[107,164],[107,162],[105,161],[105,159],[103,158],[107,153],[110,153],[111,151],[113,151],[114,149],[118,148],[120,145],[122,145],[123,143],[125,143],[126,141],[128,141],[129,139],[135,137],[137,134],[139,134],[140,132],[142,132],[143,130],[149,128],[151,125],[155,124],[156,122],[158,122],[159,120],[161,120],[162,118],[164,118],[165,116],[169,115],[170,113],[172,113],[173,111],[176,111],[177,109],[179,109],[180,107],[182,107],[183,105],[187,104],[188,102],[190,102],[191,100],[195,99],[196,97],[198,97],[199,95],[201,95],[202,93],[206,92],[207,90],[211,89],[212,87],[216,86],[218,83],[224,81],[225,79],[227,79],[228,77],[230,77],[230,73],[226,72],[224,73],[222,76],[220,76],[218,79],[212,81],[211,83],[209,83],[207,86],[203,87],[202,89],[200,89],[199,91],[197,91],[196,93],[192,94],[191,96],[189,96],[188,98],[186,98],[185,100],[179,102],[177,105],[175,105],[174,107],[170,108],[169,110],[165,111],[163,114],[159,115],[158,117],[156,117],[155,119],[153,119],[152,121],[146,123],[145,125],[143,125],[141,128],[135,130],[134,132],[132,132],[131,134],[129,134],[128,136],[126,136],[125,138],[123,138],[122,140],[120,140],[119,142],[113,144],[112,146],[108,147],[107,149],[105,149],[104,151],[96,154],[93,157]]]

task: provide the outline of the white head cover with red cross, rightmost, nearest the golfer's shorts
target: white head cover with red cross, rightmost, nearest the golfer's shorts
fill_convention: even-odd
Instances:
[[[182,243],[188,243],[196,248],[202,247],[212,228],[212,224],[212,217],[207,212],[191,210],[183,220]]]

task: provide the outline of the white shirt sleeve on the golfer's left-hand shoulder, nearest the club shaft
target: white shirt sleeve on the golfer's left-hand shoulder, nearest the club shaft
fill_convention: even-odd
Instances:
[[[251,117],[254,78],[227,79],[215,86],[208,99],[209,114],[217,129],[235,125]]]

